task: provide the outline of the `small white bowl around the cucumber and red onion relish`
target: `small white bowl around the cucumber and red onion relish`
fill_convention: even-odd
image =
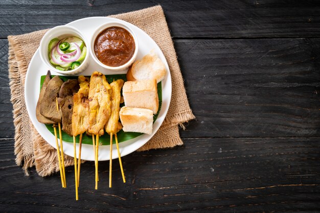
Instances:
[[[87,52],[85,55],[85,59],[83,60],[83,62],[80,64],[79,67],[77,67],[76,69],[73,70],[68,70],[68,71],[62,71],[62,70],[58,70],[56,69],[51,63],[50,63],[50,59],[49,59],[49,54],[48,54],[48,45],[49,42],[54,39],[54,38],[59,38],[59,39],[63,39],[65,37],[68,36],[76,36],[81,38],[84,41],[84,44],[87,48]],[[44,36],[41,39],[40,42],[40,46],[39,46],[39,53],[40,53],[40,58],[42,60],[42,62],[51,70],[51,71],[55,71],[64,75],[75,75],[75,74],[79,74],[80,72],[84,71],[88,65],[89,65],[89,46],[88,46],[88,42],[86,41],[85,37],[73,26],[67,26],[67,25],[61,25],[61,26],[56,26],[55,28],[52,28],[51,30],[49,30],[47,33],[44,34]]]

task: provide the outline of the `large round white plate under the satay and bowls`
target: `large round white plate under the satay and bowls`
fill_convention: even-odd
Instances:
[[[108,17],[89,17],[83,18],[67,25],[74,26],[75,28],[79,29],[82,34],[87,38],[87,41],[90,41],[92,37],[92,33],[94,30],[101,24],[107,21],[113,21],[114,18]],[[122,21],[122,20],[121,20]],[[127,155],[136,149],[139,149],[145,143],[147,143],[151,137],[155,134],[158,128],[161,126],[162,122],[164,121],[171,100],[171,75],[168,63],[166,61],[163,52],[158,47],[158,45],[148,36],[144,31],[142,31],[137,26],[122,21],[131,26],[132,30],[136,34],[139,40],[139,52],[137,60],[142,59],[143,56],[147,55],[151,49],[155,49],[158,57],[165,63],[167,68],[167,75],[165,79],[162,81],[162,107],[161,111],[158,115],[158,118],[153,124],[153,130],[151,135],[143,134],[139,137],[134,139],[119,143],[120,153],[121,156]],[[94,71],[100,71],[103,74],[123,74],[125,72],[117,72],[117,71],[107,71],[104,70],[101,66],[99,66],[93,59],[90,59],[90,65],[88,68],[82,72],[82,75],[91,75]],[[26,106],[27,111],[29,113],[29,117],[42,136],[42,138],[47,141],[51,146],[56,148],[55,137],[51,134],[51,132],[45,127],[44,124],[39,123],[36,119],[36,104],[39,97],[40,92],[40,76],[47,74],[47,67],[42,63],[39,55],[39,49],[35,52],[30,65],[28,67],[27,75],[26,75],[26,82],[25,82],[25,99],[26,99]],[[58,75],[56,72],[51,72],[53,75]],[[79,144],[77,143],[77,156],[78,156],[78,148]],[[117,147],[115,145],[112,146],[112,158],[118,158]],[[109,145],[104,145],[99,147],[99,161],[107,161],[109,160]],[[64,153],[70,156],[74,155],[73,150],[73,143],[63,142],[63,150]],[[94,161],[94,154],[93,154],[93,146],[88,144],[82,144],[82,151],[81,151],[81,159],[85,159],[87,161]]]

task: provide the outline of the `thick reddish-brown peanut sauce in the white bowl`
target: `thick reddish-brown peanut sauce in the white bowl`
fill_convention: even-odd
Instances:
[[[94,50],[103,64],[118,67],[132,58],[135,50],[134,39],[127,30],[111,26],[97,36]]]

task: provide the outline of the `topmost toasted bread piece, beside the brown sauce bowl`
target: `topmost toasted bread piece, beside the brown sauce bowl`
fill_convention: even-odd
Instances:
[[[150,54],[144,56],[141,61],[133,63],[131,73],[138,81],[155,78],[156,83],[159,83],[165,78],[167,69],[155,51],[151,50]]]

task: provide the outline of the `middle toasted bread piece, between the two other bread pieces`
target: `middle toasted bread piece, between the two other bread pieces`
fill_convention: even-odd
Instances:
[[[137,107],[158,112],[159,99],[155,79],[125,82],[122,89],[126,107]]]

